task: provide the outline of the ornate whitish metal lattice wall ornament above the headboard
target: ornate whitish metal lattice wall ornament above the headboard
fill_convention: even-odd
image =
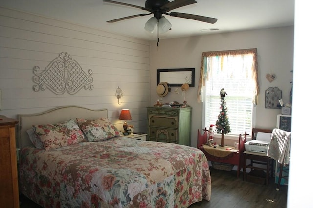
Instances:
[[[33,81],[36,85],[33,86],[33,90],[36,92],[48,88],[57,95],[62,95],[66,91],[73,95],[83,87],[85,90],[93,89],[92,70],[89,69],[86,74],[67,52],[60,53],[43,72],[39,73],[39,70],[39,66],[34,66]]]

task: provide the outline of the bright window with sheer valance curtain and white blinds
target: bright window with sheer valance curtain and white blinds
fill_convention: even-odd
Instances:
[[[205,54],[204,54],[205,53]],[[216,124],[220,114],[220,90],[225,89],[229,135],[251,132],[253,104],[257,104],[256,49],[204,52],[201,71],[205,127]],[[200,94],[201,95],[201,92]]]

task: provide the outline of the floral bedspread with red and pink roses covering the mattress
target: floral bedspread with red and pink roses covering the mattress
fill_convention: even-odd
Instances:
[[[121,136],[50,151],[23,148],[19,182],[46,208],[186,208],[211,197],[202,151]]]

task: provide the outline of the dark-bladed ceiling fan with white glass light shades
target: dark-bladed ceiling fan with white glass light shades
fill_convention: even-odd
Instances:
[[[123,2],[112,1],[112,0],[103,0],[103,1],[108,2],[108,3],[120,4],[120,5],[124,5],[124,6],[131,6],[131,7],[135,7],[135,8],[149,12],[148,14],[147,13],[137,14],[137,15],[127,16],[127,17],[107,21],[109,23],[113,23],[113,22],[117,22],[117,21],[121,21],[121,20],[125,20],[125,19],[130,19],[130,18],[134,18],[134,17],[141,17],[141,16],[153,14],[153,17],[150,18],[145,25],[145,29],[151,33],[154,31],[156,24],[158,24],[161,32],[166,32],[166,31],[171,29],[171,27],[172,27],[171,23],[167,19],[165,19],[163,14],[169,15],[172,17],[198,20],[198,21],[207,22],[207,23],[211,23],[211,24],[214,24],[217,21],[216,18],[204,17],[204,16],[200,16],[200,15],[186,14],[186,13],[180,13],[180,12],[168,13],[169,11],[171,11],[173,9],[177,9],[179,7],[182,7],[182,6],[187,6],[190,4],[197,3],[197,1],[195,1],[195,0],[173,0],[173,1],[146,0],[145,7],[136,6],[133,4],[123,3]]]

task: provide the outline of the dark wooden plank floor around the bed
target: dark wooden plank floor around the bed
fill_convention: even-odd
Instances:
[[[210,202],[201,201],[188,208],[286,208],[287,186],[276,191],[274,179],[268,186],[243,181],[242,173],[237,179],[236,171],[215,170],[210,168],[212,195]],[[21,197],[20,208],[41,208]]]

